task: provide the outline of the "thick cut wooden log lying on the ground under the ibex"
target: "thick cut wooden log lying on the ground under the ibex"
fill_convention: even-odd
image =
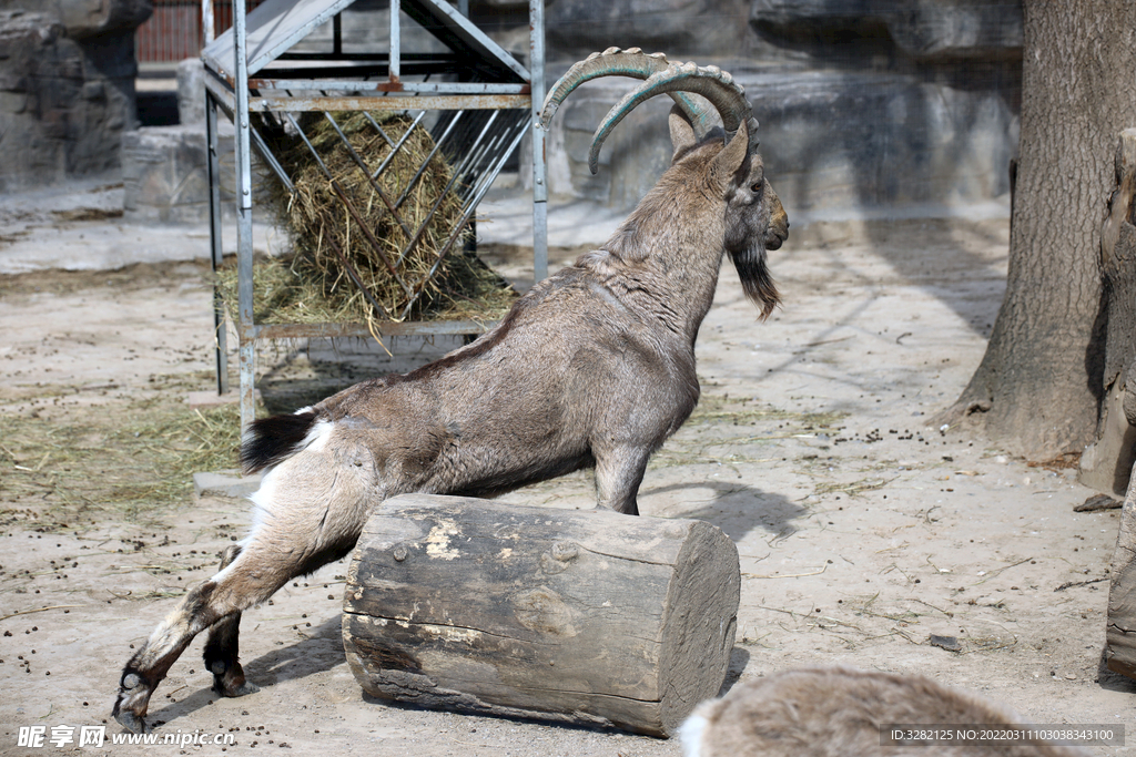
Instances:
[[[404,495],[356,547],[343,646],[375,697],[666,737],[718,695],[740,587],[702,521]]]

